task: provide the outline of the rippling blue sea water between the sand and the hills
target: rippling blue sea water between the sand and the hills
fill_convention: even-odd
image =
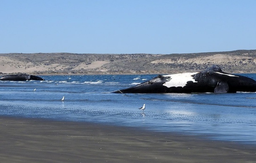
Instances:
[[[256,74],[240,75],[256,79]],[[123,125],[256,145],[254,92],[114,94],[110,92],[156,75],[40,77],[45,81],[0,81],[0,115]],[[142,112],[138,108],[144,103]]]

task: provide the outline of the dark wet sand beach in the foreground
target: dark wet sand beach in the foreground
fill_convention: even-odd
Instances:
[[[255,162],[256,147],[87,122],[0,117],[0,162]]]

